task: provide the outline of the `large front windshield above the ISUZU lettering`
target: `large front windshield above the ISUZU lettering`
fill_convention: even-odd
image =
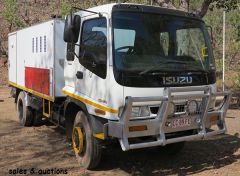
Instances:
[[[114,65],[138,75],[214,70],[204,23],[151,13],[113,13]]]

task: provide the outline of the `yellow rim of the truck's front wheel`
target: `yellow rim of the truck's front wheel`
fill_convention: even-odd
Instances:
[[[84,135],[80,127],[73,128],[72,142],[75,154],[80,155],[84,148]]]

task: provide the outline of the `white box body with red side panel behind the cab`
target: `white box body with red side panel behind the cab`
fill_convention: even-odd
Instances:
[[[9,34],[9,83],[54,100],[63,96],[64,22],[50,20]]]

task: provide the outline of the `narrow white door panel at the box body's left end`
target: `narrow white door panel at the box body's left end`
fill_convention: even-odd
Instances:
[[[17,83],[17,33],[9,35],[8,67],[9,81]]]

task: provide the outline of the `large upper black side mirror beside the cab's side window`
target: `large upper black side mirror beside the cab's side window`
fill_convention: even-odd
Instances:
[[[81,25],[81,17],[79,15],[67,15],[64,27],[64,41],[67,43],[76,43],[78,41]]]

